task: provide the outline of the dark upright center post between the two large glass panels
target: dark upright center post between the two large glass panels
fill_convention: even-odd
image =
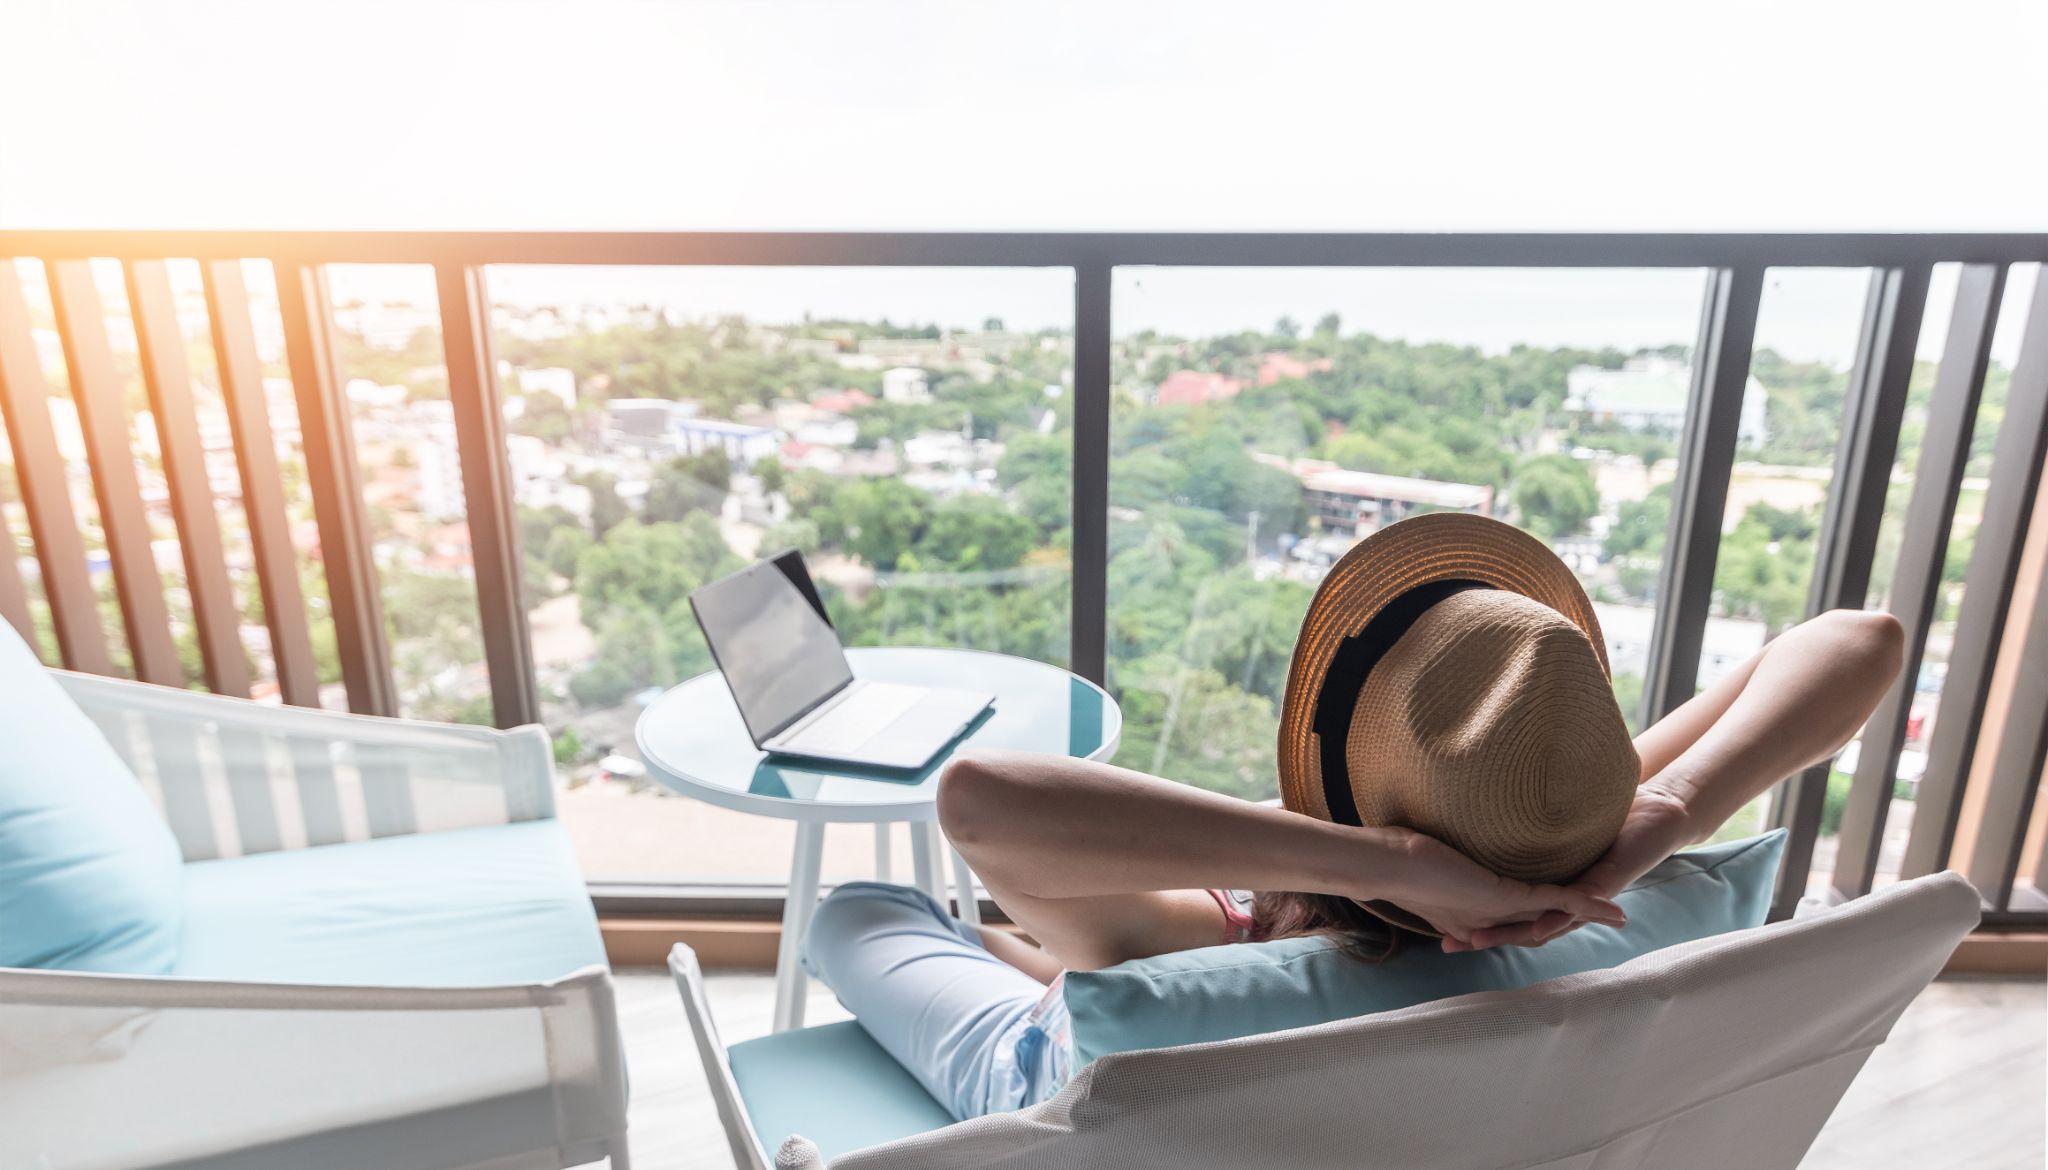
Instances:
[[[1071,666],[1108,676],[1110,264],[1073,270],[1073,613]]]

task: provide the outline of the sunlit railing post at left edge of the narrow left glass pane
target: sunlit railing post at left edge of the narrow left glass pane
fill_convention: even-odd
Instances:
[[[362,514],[356,441],[334,367],[334,314],[326,273],[317,264],[279,264],[276,301],[285,318],[285,350],[299,402],[305,475],[313,490],[319,559],[328,572],[328,602],[348,709],[360,715],[397,715],[377,566]]]

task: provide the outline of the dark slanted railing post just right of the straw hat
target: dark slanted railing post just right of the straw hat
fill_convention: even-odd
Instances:
[[[1700,643],[1714,600],[1720,516],[1743,420],[1743,389],[1757,338],[1763,268],[1714,268],[1700,307],[1692,350],[1692,395],[1671,486],[1671,529],[1657,578],[1657,625],[1642,680],[1642,723],[1663,719],[1692,699],[1700,680]]]

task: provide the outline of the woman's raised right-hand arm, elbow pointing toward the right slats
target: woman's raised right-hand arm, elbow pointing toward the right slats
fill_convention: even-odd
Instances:
[[[1573,885],[1614,897],[1698,844],[1743,805],[1847,744],[1898,676],[1905,633],[1888,613],[1837,609],[1778,635],[1755,658],[1636,738],[1642,787],[1614,848]],[[1479,930],[1477,947],[1534,945],[1575,920]]]

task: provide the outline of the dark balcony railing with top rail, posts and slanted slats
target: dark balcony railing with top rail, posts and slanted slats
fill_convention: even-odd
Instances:
[[[313,625],[301,588],[272,418],[266,410],[244,260],[266,260],[289,357],[291,395],[317,527],[319,568],[340,682],[352,711],[397,713],[373,518],[365,506],[354,428],[338,365],[330,264],[430,266],[438,297],[449,404],[459,451],[489,709],[500,725],[537,721],[520,529],[494,361],[485,270],[496,264],[674,266],[1026,266],[1073,275],[1071,645],[1079,674],[1104,680],[1110,658],[1108,561],[1112,475],[1112,275],[1124,266],[1262,268],[1698,268],[1706,299],[1692,346],[1692,393],[1679,441],[1671,518],[1655,592],[1642,719],[1696,693],[1714,596],[1722,516],[1737,459],[1743,393],[1767,268],[1868,268],[1855,361],[1808,613],[1864,607],[1880,518],[1898,455],[1901,420],[1935,264],[1958,264],[1954,309],[1935,373],[1903,545],[1888,604],[1909,631],[1909,666],[1862,738],[1835,865],[1835,895],[1866,893],[1878,871],[1907,736],[1917,666],[1942,594],[1970,438],[1985,393],[1993,328],[2013,264],[2048,262],[2048,236],[1573,236],[1573,234],[215,234],[0,232],[0,408],[12,445],[20,516],[33,539],[61,666],[111,672],[109,629],[51,422],[51,387],[23,297],[20,260],[49,285],[55,332],[90,463],[98,533],[119,600],[133,674],[186,684],[174,621],[152,551],[139,455],[131,449],[123,379],[104,328],[92,262],[119,262],[135,352],[158,434],[168,512],[190,598],[190,629],[211,691],[248,695],[215,488],[190,393],[193,371],[166,262],[197,260],[205,279],[219,391],[248,518],[268,656],[285,703],[317,705]],[[1948,676],[1927,744],[1917,813],[1901,875],[1962,869],[1982,891],[1987,924],[2048,924],[2048,850],[2023,856],[2048,764],[2048,588],[2036,529],[2048,457],[2048,281],[2025,307],[2025,336],[1997,430],[1982,518],[1954,623]],[[0,615],[33,637],[16,557],[0,557]],[[2003,670],[2001,670],[2003,664]],[[1987,711],[2003,711],[1987,721]],[[1987,727],[1997,725],[1995,742]],[[1790,779],[1769,818],[1792,830],[1778,910],[1806,891],[1821,836],[1829,764]],[[2036,834],[2038,836],[2038,834]],[[2034,844],[2034,848],[2040,848]],[[2021,879],[2028,873],[2028,879]]]

